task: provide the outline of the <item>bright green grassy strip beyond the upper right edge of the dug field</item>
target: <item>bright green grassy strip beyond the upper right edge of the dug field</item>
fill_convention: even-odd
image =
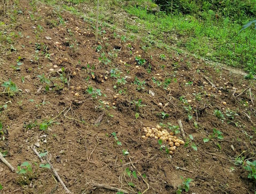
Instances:
[[[145,30],[153,35],[151,39],[175,42],[177,47],[190,53],[256,73],[256,40],[253,38],[256,30],[253,27],[238,34],[241,24],[229,18],[217,21],[211,11],[198,19],[182,14],[149,14],[145,8],[135,6],[125,7],[125,10],[140,18]]]

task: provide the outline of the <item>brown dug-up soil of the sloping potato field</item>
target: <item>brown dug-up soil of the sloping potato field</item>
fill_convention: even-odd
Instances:
[[[114,30],[104,26],[100,40],[95,41],[92,22],[39,2],[10,2],[1,21],[5,25],[0,26],[0,82],[2,84],[11,78],[21,91],[12,93],[13,96],[0,94],[0,106],[8,105],[0,112],[4,131],[0,149],[8,151],[5,159],[15,169],[25,161],[32,165],[31,174],[17,174],[0,162],[1,194],[65,193],[60,183],[56,184],[52,171],[39,167],[40,160],[32,147],[39,153],[48,152],[47,157],[53,167],[74,194],[116,193],[93,187],[93,183],[122,188],[129,193],[143,193],[148,183],[146,194],[175,193],[182,183],[180,176],[193,179],[188,193],[254,193],[255,184],[247,178],[248,172],[241,165],[234,164],[240,154],[245,159],[254,158],[254,104],[248,91],[233,97],[247,88],[251,80],[175,51],[143,50],[139,39],[123,42],[121,38],[114,37]],[[102,46],[99,52],[96,49],[98,45]],[[99,62],[103,52],[110,63]],[[160,58],[163,53],[166,54],[165,60]],[[146,62],[136,67],[135,57],[138,55]],[[11,66],[17,67],[19,56],[19,62],[23,64],[16,70]],[[150,66],[151,72],[148,73]],[[61,68],[62,71],[57,72]],[[124,85],[118,85],[119,78],[111,77],[111,69],[115,68],[120,71],[120,78],[128,76]],[[92,79],[92,72],[95,79]],[[38,75],[45,75],[50,80],[48,91],[47,83],[41,82]],[[101,75],[108,79],[101,78]],[[214,91],[204,76],[221,93]],[[135,77],[145,80],[145,88],[137,90]],[[157,86],[152,77],[162,83],[171,78],[171,83],[164,89],[163,85]],[[100,89],[102,95],[92,98],[87,92],[88,87]],[[0,88],[1,92],[6,91],[4,87]],[[149,90],[155,95],[152,96]],[[254,98],[254,86],[251,92]],[[199,93],[201,99],[195,96]],[[181,96],[191,102],[182,102]],[[131,102],[138,99],[142,99],[146,106],[136,109]],[[108,102],[109,106],[102,101]],[[158,106],[159,103],[163,106]],[[193,117],[190,120],[184,108],[188,105],[192,107],[189,114]],[[218,119],[214,115],[215,110],[221,110],[226,119]],[[238,114],[229,124],[225,114],[227,110]],[[137,119],[136,112],[139,114]],[[170,116],[163,119],[161,112]],[[250,115],[251,120],[244,112]],[[53,118],[47,130],[39,129],[41,123]],[[178,125],[179,119],[186,137],[193,136],[191,141],[196,144],[197,151],[190,143],[187,147],[181,145],[170,155],[160,150],[157,139],[142,139],[145,135],[143,127],[156,127],[159,123]],[[222,131],[224,139],[214,138],[204,143],[203,138],[212,134],[213,128]],[[169,128],[166,129],[170,132]],[[122,145],[117,144],[113,132]],[[176,136],[182,138],[180,133]],[[34,145],[37,142],[40,147]],[[163,145],[169,147],[166,142]],[[129,154],[125,156],[122,150]],[[43,159],[45,161],[45,157]],[[135,171],[138,178],[129,178],[126,168]],[[129,182],[134,183],[135,188],[129,187]]]

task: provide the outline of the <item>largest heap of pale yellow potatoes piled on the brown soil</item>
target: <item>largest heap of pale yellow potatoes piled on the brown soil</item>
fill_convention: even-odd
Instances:
[[[162,130],[161,126],[159,125],[156,125],[156,128],[143,127],[143,130],[146,133],[146,135],[142,135],[142,139],[155,138],[163,140],[163,142],[169,144],[170,154],[173,154],[177,147],[180,147],[180,145],[185,144],[184,141],[174,136],[174,132],[168,132],[166,129]]]

